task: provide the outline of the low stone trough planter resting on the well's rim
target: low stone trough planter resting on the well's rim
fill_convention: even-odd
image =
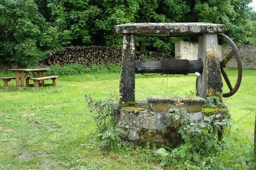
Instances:
[[[180,105],[180,108],[184,108],[187,112],[199,112],[204,105],[206,100],[201,97],[193,97],[189,99],[188,97],[171,97],[171,98],[157,98],[148,97],[148,105],[154,112],[169,112],[170,107],[175,108],[176,102],[179,100],[184,103]]]

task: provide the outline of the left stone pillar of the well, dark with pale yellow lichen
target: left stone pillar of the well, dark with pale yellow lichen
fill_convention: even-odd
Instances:
[[[119,104],[135,102],[135,35],[123,34],[123,56],[119,84]]]

